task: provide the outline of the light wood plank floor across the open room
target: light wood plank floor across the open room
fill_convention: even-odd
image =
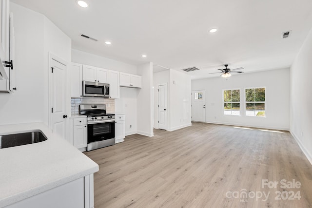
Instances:
[[[193,123],[154,134],[86,152],[99,165],[95,208],[312,207],[312,165],[290,132]],[[262,179],[277,181],[276,189],[262,189]],[[301,187],[280,188],[282,179]],[[233,197],[245,189],[249,198]],[[275,191],[284,191],[284,200]],[[286,199],[290,191],[301,199]]]

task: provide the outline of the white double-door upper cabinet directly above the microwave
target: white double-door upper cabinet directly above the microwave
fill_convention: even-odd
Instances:
[[[94,66],[83,65],[83,81],[109,83],[109,70]]]

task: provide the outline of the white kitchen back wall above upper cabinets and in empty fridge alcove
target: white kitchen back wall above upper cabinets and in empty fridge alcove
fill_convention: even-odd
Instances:
[[[72,62],[137,74],[137,66],[135,65],[74,49],[72,50]],[[126,115],[126,135],[137,133],[137,89],[120,87],[120,99],[115,99],[115,113]]]

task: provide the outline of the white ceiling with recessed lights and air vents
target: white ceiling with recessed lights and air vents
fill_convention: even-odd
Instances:
[[[290,67],[312,28],[311,0],[85,0],[88,8],[76,0],[11,1],[44,14],[74,49],[135,65],[196,66],[192,79],[218,76],[208,74],[224,63],[245,73]]]

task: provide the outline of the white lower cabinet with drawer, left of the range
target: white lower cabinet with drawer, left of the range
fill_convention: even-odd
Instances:
[[[80,151],[87,147],[87,118],[73,119],[73,145]]]

